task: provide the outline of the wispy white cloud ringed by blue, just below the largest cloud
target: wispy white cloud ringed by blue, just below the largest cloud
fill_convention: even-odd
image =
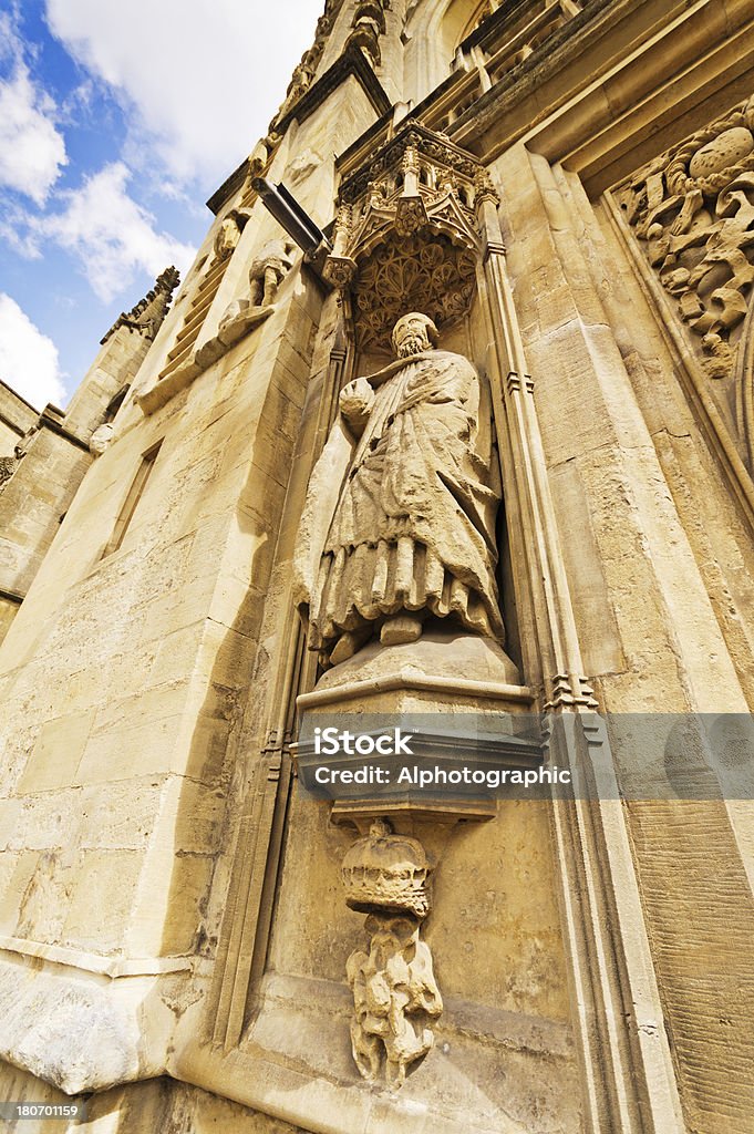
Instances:
[[[59,196],[62,211],[29,221],[37,238],[53,239],[75,255],[94,293],[105,303],[127,290],[137,273],[158,276],[169,264],[184,271],[195,249],[155,229],[154,217],[126,189],[129,171],[112,162]]]

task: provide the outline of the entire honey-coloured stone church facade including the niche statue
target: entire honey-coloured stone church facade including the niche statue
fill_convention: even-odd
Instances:
[[[328,0],[0,488],[2,1099],[749,1134],[751,798],[611,721],[754,701],[753,94],[754,0]],[[314,802],[336,712],[601,790]]]

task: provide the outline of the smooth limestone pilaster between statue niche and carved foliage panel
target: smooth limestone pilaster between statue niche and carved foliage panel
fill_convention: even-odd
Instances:
[[[723,483],[721,448],[695,424],[658,313],[605,206],[587,200],[575,175],[523,147],[497,172],[579,641],[599,700],[608,712],[746,713],[752,528]],[[630,775],[635,753],[618,745],[616,758]],[[743,1132],[754,1004],[728,948],[754,917],[752,805],[635,802],[629,818],[689,1120]],[[696,861],[700,840],[706,849]],[[669,915],[670,878],[675,894],[685,894],[683,922]],[[737,1021],[732,1050],[720,1013]]]

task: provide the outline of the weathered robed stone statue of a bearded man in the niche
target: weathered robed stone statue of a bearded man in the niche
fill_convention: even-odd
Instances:
[[[398,320],[398,361],[346,386],[314,469],[296,598],[325,665],[375,631],[414,642],[429,616],[502,642],[489,414],[474,366],[433,342],[426,315]]]

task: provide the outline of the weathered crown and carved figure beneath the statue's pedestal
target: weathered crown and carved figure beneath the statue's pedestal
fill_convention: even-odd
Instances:
[[[368,914],[370,937],[366,951],[356,949],[346,963],[354,993],[351,1050],[364,1078],[384,1072],[393,1088],[431,1050],[429,1024],[442,1012],[432,954],[420,937],[430,909],[430,872],[418,839],[393,833],[387,820],[375,820],[342,864],[346,903]]]

